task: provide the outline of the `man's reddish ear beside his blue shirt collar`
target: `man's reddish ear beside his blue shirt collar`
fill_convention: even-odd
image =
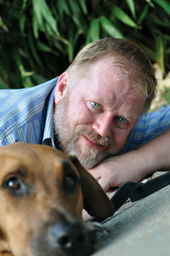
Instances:
[[[54,91],[54,103],[57,105],[61,99],[63,99],[66,90],[67,90],[67,80],[68,73],[65,71],[61,76],[59,76],[58,81],[56,83],[56,89]]]

